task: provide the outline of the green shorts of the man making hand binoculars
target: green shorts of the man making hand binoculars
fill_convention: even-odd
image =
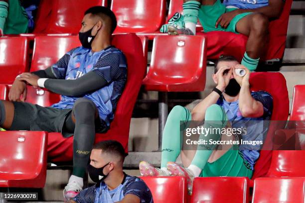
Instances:
[[[207,163],[202,170],[200,177],[248,177],[252,178],[253,171],[244,160],[243,155],[238,150],[238,145],[234,145],[222,157],[212,163]]]

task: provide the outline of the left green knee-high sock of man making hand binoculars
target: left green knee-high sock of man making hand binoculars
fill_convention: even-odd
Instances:
[[[161,168],[166,167],[167,162],[175,162],[182,147],[182,132],[180,132],[180,121],[190,121],[191,113],[182,106],[175,106],[168,114],[162,135]],[[185,129],[187,122],[183,123]]]

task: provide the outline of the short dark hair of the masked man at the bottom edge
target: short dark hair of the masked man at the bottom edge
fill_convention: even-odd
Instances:
[[[101,149],[103,153],[118,156],[120,157],[122,163],[124,162],[125,157],[127,156],[127,153],[125,153],[125,149],[122,144],[115,140],[106,140],[99,142],[94,145],[93,149]]]

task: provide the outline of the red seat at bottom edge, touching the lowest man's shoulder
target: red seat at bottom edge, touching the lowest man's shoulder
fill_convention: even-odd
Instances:
[[[140,177],[152,192],[154,203],[186,203],[184,177]]]

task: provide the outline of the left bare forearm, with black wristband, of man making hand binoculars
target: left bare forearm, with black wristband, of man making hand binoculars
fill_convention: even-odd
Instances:
[[[198,103],[192,110],[192,120],[202,121],[205,116],[206,109],[217,102],[219,95],[216,92],[211,92],[204,100]]]

